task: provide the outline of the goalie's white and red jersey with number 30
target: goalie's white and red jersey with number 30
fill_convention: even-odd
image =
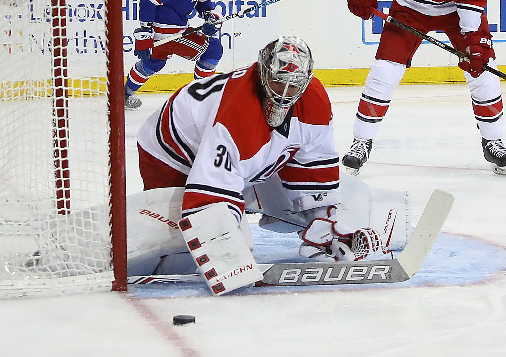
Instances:
[[[243,189],[276,172],[291,200],[339,191],[339,154],[322,84],[313,78],[291,118],[274,129],[265,121],[257,79],[255,63],[193,81],[139,130],[144,150],[188,175],[183,217],[225,201],[240,221]]]

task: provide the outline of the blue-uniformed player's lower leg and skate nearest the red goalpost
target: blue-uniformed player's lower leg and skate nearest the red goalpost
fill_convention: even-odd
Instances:
[[[126,83],[124,84],[124,107],[125,110],[134,110],[142,105],[140,98],[136,97],[134,93],[146,83],[146,81],[156,72],[165,66],[165,60],[157,60],[147,58],[137,62],[132,69]]]

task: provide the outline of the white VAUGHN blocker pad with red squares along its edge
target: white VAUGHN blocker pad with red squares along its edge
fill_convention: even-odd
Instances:
[[[225,202],[182,219],[179,226],[190,254],[214,295],[228,293],[264,277]]]

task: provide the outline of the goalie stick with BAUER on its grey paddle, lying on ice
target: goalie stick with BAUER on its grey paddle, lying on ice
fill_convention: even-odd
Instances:
[[[410,279],[424,264],[448,216],[453,195],[435,190],[399,256],[386,261],[259,264],[264,278],[256,286],[394,283]],[[199,274],[130,276],[129,284],[201,281]],[[222,276],[216,279],[226,279]]]

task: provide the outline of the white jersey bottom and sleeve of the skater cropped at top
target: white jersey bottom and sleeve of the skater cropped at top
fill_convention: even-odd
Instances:
[[[487,0],[396,0],[396,2],[401,6],[429,16],[447,15],[456,11],[462,33],[478,30],[481,24],[481,14],[487,5]]]

